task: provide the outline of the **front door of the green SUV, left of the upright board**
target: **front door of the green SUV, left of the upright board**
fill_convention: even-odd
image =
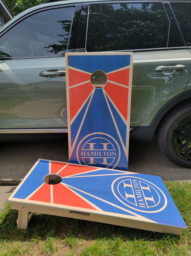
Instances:
[[[0,129],[67,128],[64,53],[75,13],[42,5],[1,33]]]

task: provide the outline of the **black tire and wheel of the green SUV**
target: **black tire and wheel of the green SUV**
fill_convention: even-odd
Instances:
[[[191,100],[164,117],[157,129],[157,142],[169,160],[191,168]]]

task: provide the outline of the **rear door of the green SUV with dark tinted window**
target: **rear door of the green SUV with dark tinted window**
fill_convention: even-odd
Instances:
[[[88,17],[88,52],[133,51],[130,126],[151,125],[165,104],[180,100],[191,73],[190,53],[169,4],[90,4]]]

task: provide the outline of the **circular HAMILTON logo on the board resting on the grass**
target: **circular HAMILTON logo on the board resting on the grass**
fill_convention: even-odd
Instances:
[[[167,206],[165,194],[155,184],[134,176],[117,178],[111,184],[114,196],[125,206],[140,212],[159,212]]]

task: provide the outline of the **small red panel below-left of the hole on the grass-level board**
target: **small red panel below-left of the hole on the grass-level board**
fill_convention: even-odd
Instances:
[[[51,203],[50,185],[45,183],[29,200]]]

